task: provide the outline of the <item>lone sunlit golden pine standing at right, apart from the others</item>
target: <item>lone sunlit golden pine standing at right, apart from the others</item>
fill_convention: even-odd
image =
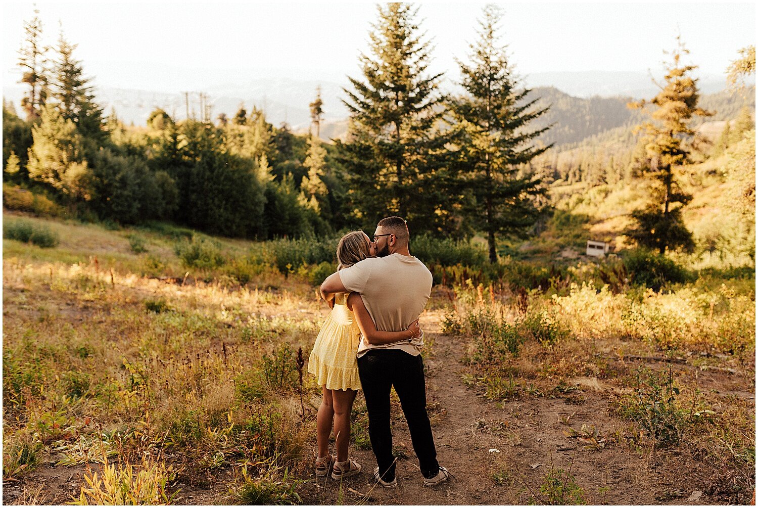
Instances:
[[[646,209],[632,213],[638,227],[630,234],[637,243],[657,249],[661,254],[672,248],[687,252],[694,249],[692,234],[681,221],[681,207],[692,198],[679,187],[677,172],[690,162],[690,148],[686,141],[694,135],[694,130],[689,127],[691,118],[711,114],[697,107],[700,99],[697,79],[690,76],[697,66],[682,63],[681,58],[689,52],[681,42],[681,36],[677,36],[676,41],[666,83],[659,86],[661,91],[650,101],[628,105],[630,108],[644,108],[648,104],[657,106],[652,112],[645,111],[655,123],[638,127],[647,134],[644,172],[652,183],[653,202]]]

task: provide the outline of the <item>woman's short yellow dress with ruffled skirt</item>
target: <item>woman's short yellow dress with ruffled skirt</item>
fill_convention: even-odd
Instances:
[[[361,330],[346,303],[347,293],[337,293],[308,359],[308,372],[329,390],[361,389],[356,359]]]

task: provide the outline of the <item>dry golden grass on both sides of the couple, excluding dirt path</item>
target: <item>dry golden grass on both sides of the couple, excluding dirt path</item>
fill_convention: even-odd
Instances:
[[[302,347],[307,358],[327,313],[307,274],[265,270],[246,285],[221,271],[184,278],[161,234],[140,232],[149,252],[136,254],[129,230],[30,220],[55,228],[61,245],[4,241],[4,478],[23,481],[51,461],[121,467],[151,456],[172,468],[161,487],[169,498],[179,482],[213,481],[231,492],[218,502],[296,500],[292,474],[310,466],[315,409],[301,412],[293,352]],[[239,254],[251,244],[221,248]],[[171,278],[146,274],[156,252]],[[589,277],[583,266],[572,270]],[[682,389],[673,407],[688,425],[660,457],[713,464],[698,470],[703,482],[737,501],[754,481],[755,406],[741,396],[755,378],[751,282],[711,275],[672,293],[614,294],[587,281],[554,296],[456,288],[430,308],[449,308],[442,331],[469,337],[467,381],[495,401],[581,403],[582,390],[595,390],[622,411],[637,389],[635,368],[675,359]],[[318,398],[309,376],[304,390],[306,401]],[[354,435],[366,447],[358,406],[356,415]],[[641,425],[631,416],[628,424]],[[650,446],[639,429],[630,435],[619,442]],[[492,480],[512,482],[503,468],[492,465]],[[27,489],[20,499],[50,502],[45,496]]]

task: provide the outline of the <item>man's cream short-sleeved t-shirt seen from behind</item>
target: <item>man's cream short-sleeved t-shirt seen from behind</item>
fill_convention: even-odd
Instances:
[[[363,303],[379,331],[403,331],[424,310],[431,295],[431,272],[413,256],[390,254],[368,258],[337,272],[348,291],[361,293]],[[358,356],[371,349],[398,349],[412,355],[421,353],[424,337],[373,346],[365,337]]]

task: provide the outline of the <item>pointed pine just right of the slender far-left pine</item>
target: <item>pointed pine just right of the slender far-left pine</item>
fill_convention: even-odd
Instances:
[[[84,77],[82,62],[74,58],[75,49],[77,45],[68,42],[61,30],[51,83],[52,96],[63,118],[74,122],[83,136],[102,140],[105,136],[102,108],[94,102],[90,79]]]

